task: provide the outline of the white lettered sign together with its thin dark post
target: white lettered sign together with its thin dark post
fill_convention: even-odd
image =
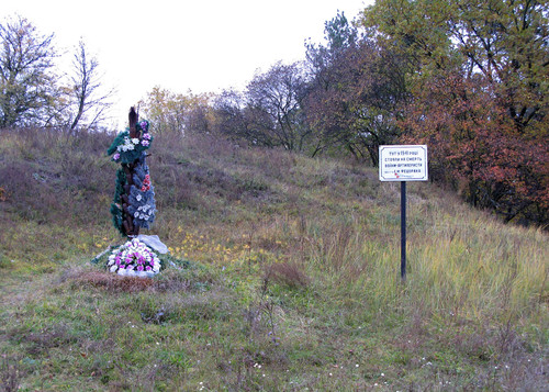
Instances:
[[[427,181],[427,146],[380,146],[380,181],[401,182],[401,280],[406,280],[406,181]]]

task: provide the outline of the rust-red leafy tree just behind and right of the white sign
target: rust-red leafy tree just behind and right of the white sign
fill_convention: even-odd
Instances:
[[[548,221],[546,136],[520,132],[478,78],[433,78],[415,98],[401,122],[403,142],[429,146],[434,180],[453,184],[506,221]]]

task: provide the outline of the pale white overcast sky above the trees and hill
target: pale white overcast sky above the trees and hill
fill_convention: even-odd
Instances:
[[[19,14],[70,64],[80,37],[96,55],[104,87],[114,87],[113,116],[155,86],[172,92],[244,89],[257,69],[304,58],[309,37],[320,43],[337,10],[350,21],[373,0],[12,0],[3,22]]]

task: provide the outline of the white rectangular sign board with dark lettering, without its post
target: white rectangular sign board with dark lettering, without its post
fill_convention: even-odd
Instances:
[[[380,181],[427,181],[427,146],[379,146]]]

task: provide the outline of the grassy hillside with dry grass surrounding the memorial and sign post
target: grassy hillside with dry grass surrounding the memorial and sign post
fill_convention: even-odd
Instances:
[[[546,232],[430,183],[158,136],[148,160],[173,266],[90,262],[122,243],[113,136],[0,131],[0,384],[21,390],[437,391],[548,387]]]

